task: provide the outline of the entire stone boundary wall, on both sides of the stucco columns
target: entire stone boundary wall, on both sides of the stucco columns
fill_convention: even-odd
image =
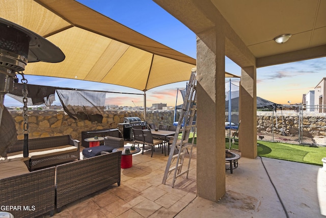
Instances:
[[[11,115],[16,121],[18,139],[23,139],[23,118],[21,110],[10,110]],[[177,118],[179,117],[177,114]],[[62,110],[30,110],[29,131],[30,138],[48,137],[56,135],[72,135],[74,139],[82,140],[82,131],[101,130],[118,128],[119,123],[123,123],[124,117],[138,116],[144,120],[142,111],[127,110],[105,110],[103,122],[101,124],[92,123],[89,120],[74,119]],[[277,113],[279,128],[275,133],[280,132],[282,127],[282,116],[284,121],[284,131],[288,135],[297,135],[298,116],[295,112]],[[147,111],[147,122],[154,123],[157,127],[160,124],[171,125],[173,123],[173,110],[149,110]],[[273,120],[274,119],[274,120]],[[272,112],[257,112],[257,133],[271,132],[271,121],[276,124],[276,117]],[[304,113],[303,125],[304,136],[325,136],[326,116],[320,113]]]

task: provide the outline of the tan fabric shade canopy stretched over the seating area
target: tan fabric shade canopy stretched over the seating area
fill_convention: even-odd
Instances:
[[[0,17],[45,37],[66,56],[60,63],[29,63],[27,75],[146,91],[186,81],[196,67],[195,59],[72,0],[1,1]]]

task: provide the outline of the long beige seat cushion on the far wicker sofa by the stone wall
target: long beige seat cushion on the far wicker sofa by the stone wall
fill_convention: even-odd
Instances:
[[[37,159],[37,158],[42,158],[42,157],[49,157],[52,155],[58,155],[58,154],[65,154],[69,152],[77,151],[77,148],[75,146],[71,146],[68,144],[67,146],[59,146],[55,148],[48,148],[48,149],[36,149],[36,150],[30,150],[29,151],[29,158]],[[13,153],[8,153],[7,154],[8,159],[13,159],[13,158],[22,158],[23,154],[22,152],[13,152]]]

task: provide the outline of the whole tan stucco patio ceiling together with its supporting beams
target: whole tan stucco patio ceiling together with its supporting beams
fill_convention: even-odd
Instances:
[[[326,1],[153,1],[196,34],[214,27],[228,36],[234,32],[257,60],[257,67],[326,56]],[[221,25],[224,20],[232,31]],[[273,39],[281,34],[292,37],[278,44]]]

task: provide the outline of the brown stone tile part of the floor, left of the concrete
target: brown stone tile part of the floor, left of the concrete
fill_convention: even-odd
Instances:
[[[133,155],[133,166],[121,169],[120,186],[70,203],[53,217],[174,217],[196,198],[196,148],[188,179],[178,179],[174,188],[172,175],[167,185],[162,184],[167,160],[160,148],[155,148],[153,157],[150,150]]]

